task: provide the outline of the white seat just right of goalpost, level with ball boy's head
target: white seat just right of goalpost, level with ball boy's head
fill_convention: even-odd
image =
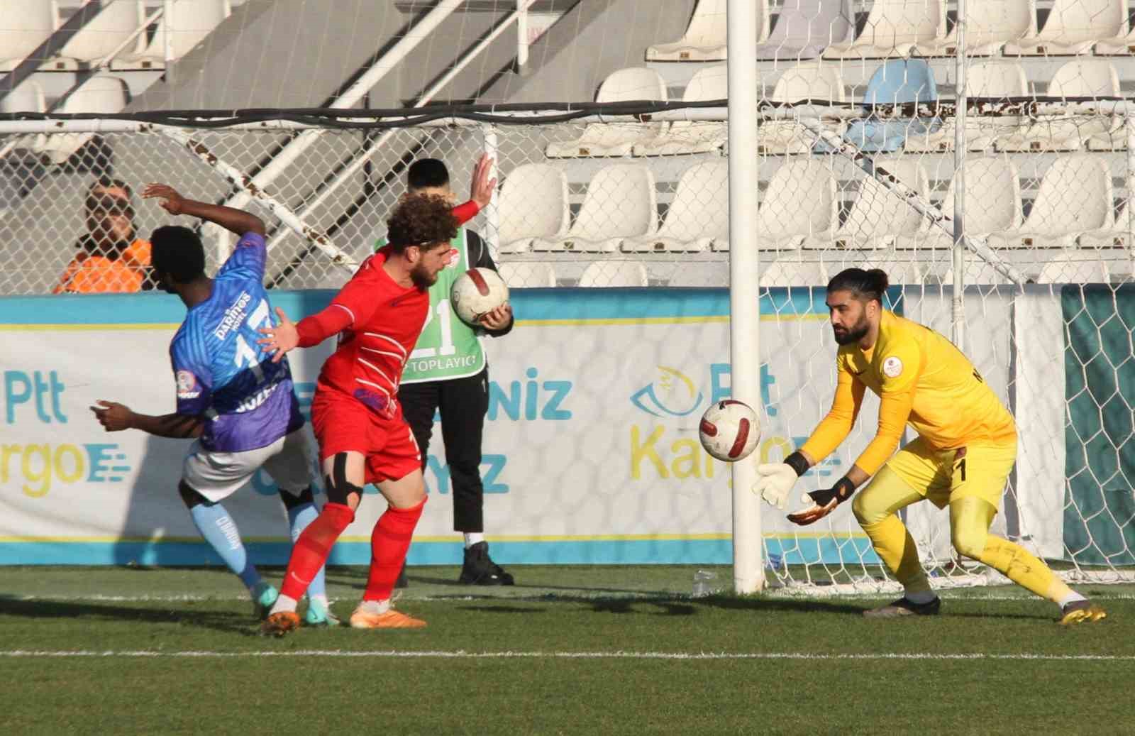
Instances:
[[[757,248],[790,251],[806,240],[831,244],[839,223],[835,177],[825,161],[818,157],[789,160],[765,189],[757,211]]]

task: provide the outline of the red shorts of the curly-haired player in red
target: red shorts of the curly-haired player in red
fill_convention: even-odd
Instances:
[[[320,388],[311,402],[311,427],[319,442],[319,461],[340,452],[365,458],[364,483],[397,480],[422,467],[421,450],[402,405],[394,417],[379,417],[361,401],[338,391]]]

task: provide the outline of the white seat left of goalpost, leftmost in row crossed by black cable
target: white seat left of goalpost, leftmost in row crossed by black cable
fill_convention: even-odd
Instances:
[[[629,102],[636,100],[666,101],[666,83],[654,69],[633,67],[619,69],[599,85],[596,102]],[[548,143],[549,158],[628,156],[636,143],[656,139],[665,129],[658,123],[592,123],[583,134],[572,141]]]

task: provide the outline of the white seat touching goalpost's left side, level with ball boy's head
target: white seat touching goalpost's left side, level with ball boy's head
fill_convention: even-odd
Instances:
[[[729,164],[696,164],[682,173],[666,219],[651,235],[628,237],[631,253],[700,252],[717,240],[729,242]]]

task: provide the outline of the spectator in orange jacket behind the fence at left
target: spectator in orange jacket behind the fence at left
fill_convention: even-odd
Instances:
[[[129,293],[152,288],[150,243],[136,236],[131,187],[100,177],[86,193],[87,233],[75,244],[79,253],[52,293]]]

